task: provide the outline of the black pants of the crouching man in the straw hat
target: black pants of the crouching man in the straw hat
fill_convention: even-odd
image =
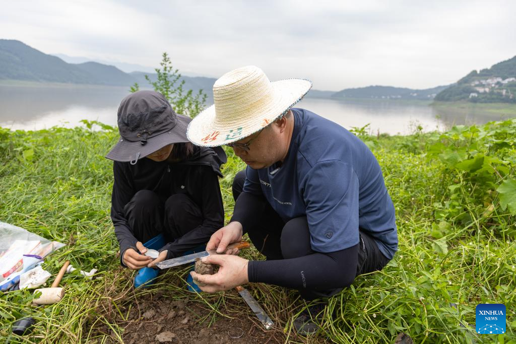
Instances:
[[[245,179],[245,171],[240,171],[233,180],[235,201],[244,188]],[[256,249],[268,260],[297,258],[316,253],[310,243],[307,217],[295,218],[285,223],[267,203],[261,219],[260,223],[246,230]],[[375,240],[362,230],[359,230],[359,238],[357,276],[383,269],[389,263],[389,259],[380,252]],[[341,290],[342,288],[322,291],[303,289],[299,290],[299,293],[303,299],[313,300],[330,297]]]

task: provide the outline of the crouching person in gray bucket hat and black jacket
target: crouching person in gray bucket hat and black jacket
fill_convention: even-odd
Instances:
[[[155,263],[199,247],[223,225],[218,177],[227,158],[189,142],[190,121],[155,91],[132,93],[118,108],[120,138],[106,155],[114,160],[111,219],[120,263],[139,269],[135,287],[152,282]],[[150,249],[159,252],[154,260]]]

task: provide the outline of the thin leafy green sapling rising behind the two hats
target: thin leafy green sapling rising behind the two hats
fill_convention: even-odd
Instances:
[[[199,90],[194,94],[192,90],[184,89],[185,80],[181,79],[179,70],[172,67],[172,61],[167,53],[163,53],[159,64],[161,68],[154,69],[157,74],[156,81],[152,81],[149,75],[145,76],[149,84],[154,91],[166,97],[175,112],[190,118],[196,117],[206,105],[206,93]],[[139,89],[139,85],[135,83],[129,91],[136,92]]]

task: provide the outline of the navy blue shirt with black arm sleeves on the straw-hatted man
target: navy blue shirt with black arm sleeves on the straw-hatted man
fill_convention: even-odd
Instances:
[[[299,272],[309,270],[321,277],[311,280],[313,288],[347,286],[356,275],[359,228],[374,238],[385,257],[394,256],[394,205],[378,161],[360,139],[313,112],[291,110],[294,130],[285,160],[260,170],[247,167],[232,220],[246,231],[259,206],[246,194],[263,197],[285,222],[307,217],[317,253],[252,261],[249,280],[299,288]]]

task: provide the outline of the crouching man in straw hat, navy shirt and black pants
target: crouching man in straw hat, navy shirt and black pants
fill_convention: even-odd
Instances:
[[[247,164],[233,182],[233,217],[206,249],[222,253],[248,233],[267,258],[247,260],[236,250],[203,258],[220,269],[191,272],[206,284],[202,290],[262,282],[325,300],[393,258],[394,206],[378,161],[342,126],[292,107],[311,87],[309,80],[270,82],[257,67],[239,68],[216,81],[215,105],[189,124],[190,141],[229,145]],[[294,321],[297,331],[317,331],[324,309],[311,302]]]

